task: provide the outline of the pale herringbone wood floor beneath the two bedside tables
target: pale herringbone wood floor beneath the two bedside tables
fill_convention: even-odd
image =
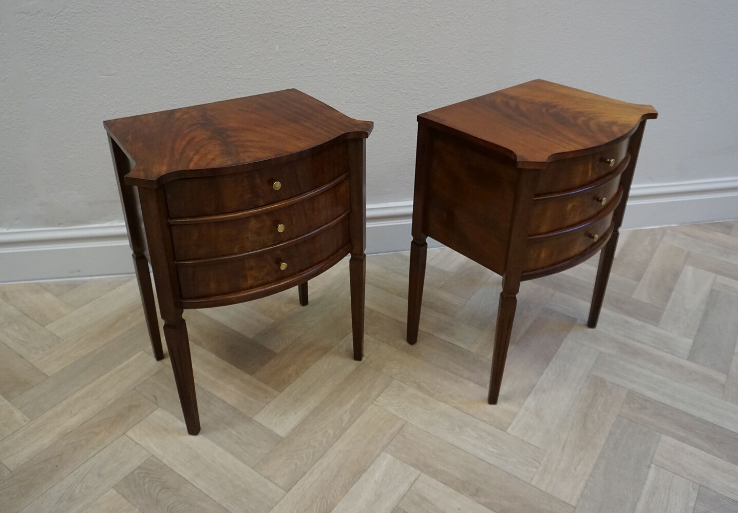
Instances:
[[[738,222],[625,232],[597,329],[596,259],[526,282],[486,405],[500,278],[369,257],[351,359],[345,262],[187,312],[202,420],[185,434],[131,277],[0,286],[0,512],[738,511]]]

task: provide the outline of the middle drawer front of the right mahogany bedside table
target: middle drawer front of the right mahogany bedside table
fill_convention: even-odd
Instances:
[[[619,184],[620,175],[604,184],[573,194],[535,198],[528,222],[528,234],[539,235],[561,230],[595,217],[610,207],[611,203],[620,201],[622,193],[618,189]]]

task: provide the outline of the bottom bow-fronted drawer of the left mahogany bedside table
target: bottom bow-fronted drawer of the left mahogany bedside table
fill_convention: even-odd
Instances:
[[[335,256],[348,254],[348,216],[292,245],[237,259],[177,265],[182,299],[225,296],[271,285],[309,271]],[[286,263],[285,269],[280,268]]]

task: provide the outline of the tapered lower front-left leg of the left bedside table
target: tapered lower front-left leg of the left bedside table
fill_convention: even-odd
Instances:
[[[192,372],[187,324],[184,323],[182,315],[170,321],[165,320],[164,337],[167,341],[170,360],[172,360],[174,380],[177,384],[179,402],[182,404],[182,413],[184,413],[184,424],[187,425],[187,433],[196,435],[200,432],[200,416],[197,411],[195,377]]]

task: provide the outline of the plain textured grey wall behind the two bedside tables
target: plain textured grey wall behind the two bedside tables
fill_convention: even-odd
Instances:
[[[737,177],[738,2],[0,4],[0,228],[122,219],[103,119],[296,87],[373,120],[368,203],[412,198],[415,115],[541,77],[661,113],[636,178]]]

